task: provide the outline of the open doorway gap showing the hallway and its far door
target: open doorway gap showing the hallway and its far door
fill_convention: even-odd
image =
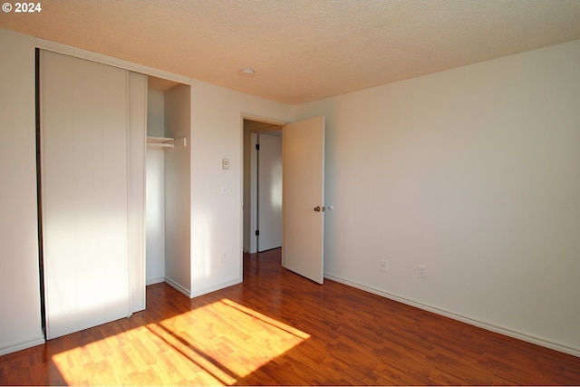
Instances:
[[[244,119],[244,251],[282,246],[282,128]]]

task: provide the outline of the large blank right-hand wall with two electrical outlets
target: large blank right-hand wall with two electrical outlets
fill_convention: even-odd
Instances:
[[[298,106],[327,118],[326,275],[580,355],[579,63],[575,41]]]

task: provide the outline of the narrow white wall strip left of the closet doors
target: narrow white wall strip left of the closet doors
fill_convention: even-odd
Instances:
[[[0,355],[43,343],[40,315],[34,41],[0,29]]]

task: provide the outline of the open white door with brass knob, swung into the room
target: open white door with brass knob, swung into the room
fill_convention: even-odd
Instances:
[[[282,266],[324,282],[324,117],[283,130]]]

